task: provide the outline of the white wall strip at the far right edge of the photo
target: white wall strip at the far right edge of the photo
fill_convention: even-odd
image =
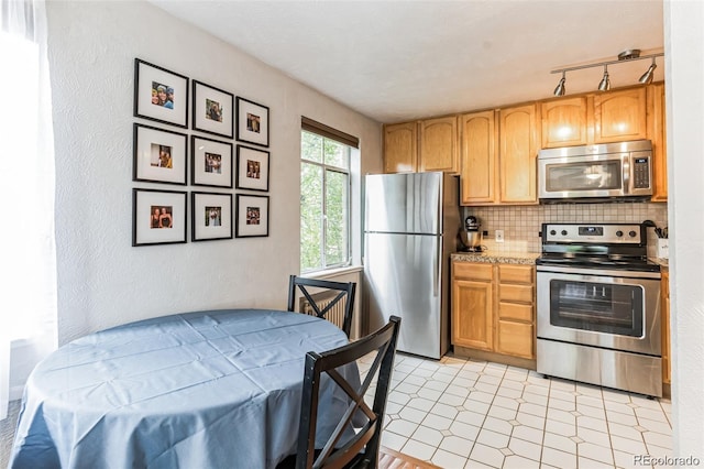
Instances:
[[[674,455],[704,461],[704,3],[664,6]],[[678,465],[684,466],[684,465]]]

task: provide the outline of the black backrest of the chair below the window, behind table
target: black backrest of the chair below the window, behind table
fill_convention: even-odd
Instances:
[[[324,318],[328,312],[344,298],[344,318],[342,321],[342,330],[350,337],[350,330],[352,329],[352,312],[354,312],[354,291],[356,283],[354,282],[332,282],[328,280],[315,280],[304,279],[301,276],[292,275],[288,282],[288,310],[296,310],[296,290],[300,290],[300,293],[310,304],[316,316]],[[320,305],[314,298],[314,295],[308,288],[322,288],[339,291],[340,293],[332,298],[324,306]]]

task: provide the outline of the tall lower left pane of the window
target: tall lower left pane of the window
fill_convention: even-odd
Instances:
[[[322,167],[300,164],[300,269],[322,268]]]

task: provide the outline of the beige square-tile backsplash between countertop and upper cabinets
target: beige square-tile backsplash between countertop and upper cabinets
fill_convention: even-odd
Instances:
[[[541,223],[625,222],[652,220],[658,227],[668,225],[668,205],[652,203],[550,204],[509,207],[463,207],[464,217],[480,219],[483,244],[492,251],[540,252]],[[494,241],[496,230],[504,230],[504,242]],[[648,255],[656,257],[657,236],[648,228]]]

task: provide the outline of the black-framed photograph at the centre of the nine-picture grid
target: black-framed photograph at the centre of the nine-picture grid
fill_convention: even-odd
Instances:
[[[232,143],[193,135],[190,153],[195,186],[232,187]]]

